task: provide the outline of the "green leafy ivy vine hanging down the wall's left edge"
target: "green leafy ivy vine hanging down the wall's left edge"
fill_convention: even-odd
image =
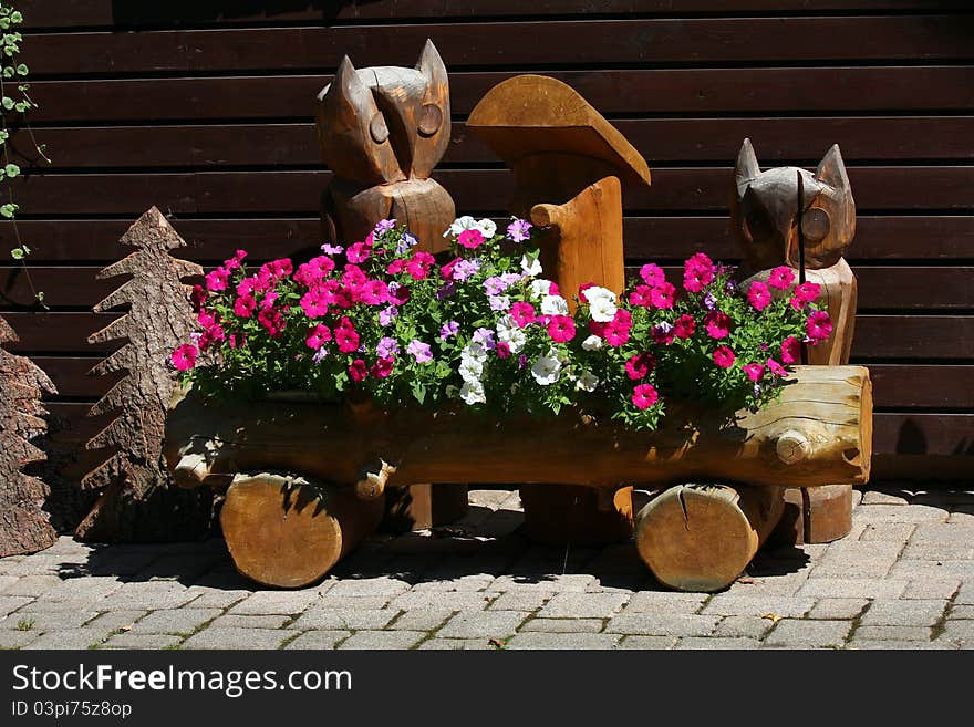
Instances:
[[[13,235],[17,239],[17,246],[10,250],[10,257],[23,266],[23,272],[28,284],[34,294],[34,298],[41,305],[44,304],[44,293],[34,288],[27,268],[27,257],[31,253],[31,248],[23,241],[20,230],[17,227],[17,212],[20,209],[14,201],[13,179],[20,176],[20,166],[11,162],[10,158],[10,133],[12,127],[22,127],[30,135],[31,144],[38,153],[39,158],[46,162],[51,160],[44,154],[44,147],[38,144],[34,138],[33,131],[27,120],[27,114],[31,108],[37,108],[37,104],[28,94],[30,85],[27,83],[27,76],[30,72],[25,63],[18,63],[20,54],[20,44],[23,41],[21,33],[17,31],[17,27],[23,22],[23,15],[19,10],[10,3],[0,2],[0,32],[2,32],[2,45],[0,45],[0,148],[3,150],[2,165],[0,165],[0,185],[7,189],[7,199],[0,198],[0,218],[9,219],[12,222]]]

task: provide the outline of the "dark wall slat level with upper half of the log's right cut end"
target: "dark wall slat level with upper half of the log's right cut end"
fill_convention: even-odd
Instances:
[[[101,397],[124,374],[91,376],[101,359],[33,356],[66,398]],[[875,406],[892,408],[974,409],[974,365],[871,364]]]

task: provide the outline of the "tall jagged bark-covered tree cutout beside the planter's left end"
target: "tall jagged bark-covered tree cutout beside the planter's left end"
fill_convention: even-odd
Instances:
[[[91,415],[117,413],[87,443],[108,458],[82,479],[101,496],[77,527],[76,536],[96,541],[158,541],[196,538],[209,531],[211,497],[169,486],[162,459],[166,411],[176,385],[169,354],[191,330],[189,287],[180,279],[203,269],[169,256],[185,247],[163,214],[149,209],[122,237],[135,249],[108,266],[99,278],[132,276],[94,307],[96,312],[129,304],[128,312],[89,337],[90,343],[127,343],[92,370],[104,375],[125,370],[118,382],[91,409]]]

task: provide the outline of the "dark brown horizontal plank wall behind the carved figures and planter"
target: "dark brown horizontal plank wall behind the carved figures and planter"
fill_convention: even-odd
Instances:
[[[838,142],[859,208],[853,356],[875,375],[881,471],[974,469],[974,14],[924,0],[20,0],[38,139],[53,167],[17,187],[34,249],[31,307],[0,268],[18,350],[50,372],[76,450],[115,378],[85,337],[116,240],[152,204],[187,257],[258,258],[318,241],[329,179],[311,123],[342,54],[412,65],[432,38],[452,72],[454,143],[437,173],[458,209],[502,215],[509,175],[464,120],[495,83],[542,72],[577,87],[639,147],[653,186],[625,197],[631,264],[736,257],[729,174],[750,136],[765,166],[814,166]],[[18,160],[35,162],[24,134]],[[3,245],[13,240],[0,225]],[[961,456],[966,455],[966,456]],[[77,457],[74,470],[86,458]],[[884,465],[884,466],[883,466]],[[74,471],[72,470],[72,471]],[[73,476],[73,475],[72,475]]]

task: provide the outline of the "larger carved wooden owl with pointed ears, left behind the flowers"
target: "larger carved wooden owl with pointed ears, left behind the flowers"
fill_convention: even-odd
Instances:
[[[429,174],[449,144],[449,85],[431,41],[415,69],[356,71],[342,59],[318,95],[317,121],[322,159],[335,175],[322,196],[325,238],[355,242],[394,218],[424,249],[447,247],[443,232],[456,209]]]

